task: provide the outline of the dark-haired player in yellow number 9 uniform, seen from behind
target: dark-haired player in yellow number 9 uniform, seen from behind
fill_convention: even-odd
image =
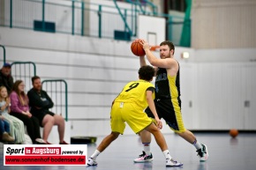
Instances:
[[[166,166],[183,166],[173,160],[169,155],[169,150],[160,129],[162,122],[154,107],[154,85],[150,83],[154,77],[154,68],[151,66],[143,66],[139,69],[139,80],[132,81],[124,86],[124,89],[117,98],[113,101],[111,108],[111,133],[102,140],[102,143],[97,147],[93,155],[88,159],[88,166],[96,166],[97,156],[103,152],[109,144],[117,139],[119,134],[124,133],[125,123],[138,134],[142,130],[147,130],[154,135],[156,143],[162,149],[166,159]],[[144,109],[149,107],[155,118],[150,119]]]

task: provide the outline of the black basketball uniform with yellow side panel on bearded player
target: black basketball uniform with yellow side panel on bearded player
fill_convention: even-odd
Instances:
[[[166,69],[158,68],[155,78],[155,100],[154,105],[159,119],[163,118],[177,133],[186,129],[181,114],[179,65],[176,76],[168,76]],[[148,117],[154,118],[150,108],[145,110]]]

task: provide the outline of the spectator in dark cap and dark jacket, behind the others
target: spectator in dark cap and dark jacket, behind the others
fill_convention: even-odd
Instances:
[[[13,86],[10,63],[4,63],[3,68],[0,70],[0,86],[2,85],[6,87],[8,94],[10,94]]]

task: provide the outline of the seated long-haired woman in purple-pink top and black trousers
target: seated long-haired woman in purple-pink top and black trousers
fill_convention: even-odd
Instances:
[[[24,92],[24,82],[17,80],[10,94],[11,113],[26,125],[26,131],[34,144],[46,144],[41,139],[40,125],[36,117],[29,112],[29,100]]]

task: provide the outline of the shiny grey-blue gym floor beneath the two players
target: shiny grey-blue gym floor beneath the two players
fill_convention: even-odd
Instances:
[[[181,162],[181,167],[166,167],[164,156],[152,141],[151,150],[154,161],[151,163],[133,163],[138,157],[143,146],[136,135],[120,136],[109,145],[98,158],[98,166],[4,166],[3,144],[0,144],[0,169],[1,170],[255,170],[256,167],[256,134],[239,134],[231,138],[226,133],[195,133],[198,140],[207,144],[209,159],[200,163],[197,152],[192,144],[188,144],[175,134],[164,134],[169,145],[170,155]],[[98,137],[96,144],[88,144],[90,156],[102,142],[103,137]]]

